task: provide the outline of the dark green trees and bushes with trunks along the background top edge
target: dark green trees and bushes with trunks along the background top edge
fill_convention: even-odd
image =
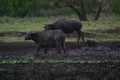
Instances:
[[[109,16],[120,14],[119,0],[0,0],[0,16],[58,16],[76,13],[80,20],[88,20],[94,14],[98,20],[101,13]]]

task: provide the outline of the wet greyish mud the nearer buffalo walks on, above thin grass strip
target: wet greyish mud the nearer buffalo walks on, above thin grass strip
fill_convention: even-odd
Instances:
[[[0,43],[0,59],[22,60],[35,55],[38,45],[35,43]],[[49,48],[48,53],[41,49],[37,54],[39,59],[82,59],[101,60],[119,59],[120,42],[101,42],[97,46],[88,47],[84,43],[67,42],[66,53],[56,53],[56,49]]]

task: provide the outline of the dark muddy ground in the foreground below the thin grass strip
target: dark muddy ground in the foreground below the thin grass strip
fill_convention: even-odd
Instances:
[[[120,80],[119,63],[0,64],[0,80]]]

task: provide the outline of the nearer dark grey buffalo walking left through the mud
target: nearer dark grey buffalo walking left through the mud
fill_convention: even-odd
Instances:
[[[39,44],[36,53],[38,53],[40,48],[44,48],[47,53],[47,47],[56,47],[58,52],[62,49],[65,53],[65,34],[61,30],[46,30],[42,32],[28,33],[25,40],[33,40],[35,43]]]

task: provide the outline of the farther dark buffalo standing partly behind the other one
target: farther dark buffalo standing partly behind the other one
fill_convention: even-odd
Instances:
[[[46,24],[44,28],[45,30],[61,29],[64,33],[73,33],[74,31],[76,31],[78,34],[77,42],[79,42],[80,37],[82,37],[82,40],[85,43],[83,32],[81,31],[82,24],[79,20],[59,19],[53,24]]]

